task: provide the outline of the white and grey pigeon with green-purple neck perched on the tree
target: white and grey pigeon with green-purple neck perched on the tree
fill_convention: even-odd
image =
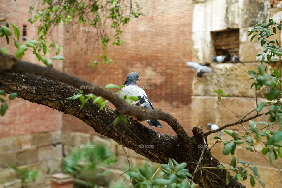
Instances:
[[[136,96],[139,100],[133,101],[135,105],[145,107],[150,110],[154,109],[145,91],[136,85],[137,80],[140,81],[138,73],[132,72],[127,75],[125,83],[123,84],[125,86],[120,90],[120,97],[124,98],[125,95],[127,95],[127,97]],[[158,120],[147,120],[147,122],[151,127],[162,127]]]

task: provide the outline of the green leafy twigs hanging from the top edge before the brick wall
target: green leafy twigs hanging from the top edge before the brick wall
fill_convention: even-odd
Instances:
[[[134,1],[123,2],[118,0],[109,1],[85,1],[70,0],[67,2],[42,0],[40,8],[30,6],[30,13],[33,14],[28,21],[33,24],[36,21],[40,22],[38,26],[38,35],[40,39],[46,39],[48,32],[51,32],[56,26],[63,23],[80,24],[99,29],[97,36],[104,51],[100,58],[103,63],[111,63],[112,60],[108,57],[108,43],[113,39],[113,45],[119,46],[124,41],[120,38],[122,34],[122,26],[129,21],[144,14],[141,12],[142,7]],[[110,20],[110,23],[106,22]],[[105,24],[106,23],[106,24]],[[114,36],[110,36],[105,32],[104,27],[110,25],[115,31]],[[61,47],[50,41],[49,47],[56,48],[56,55],[60,52]],[[97,55],[96,55],[96,58]],[[92,67],[98,65],[99,61],[94,59],[89,63]]]

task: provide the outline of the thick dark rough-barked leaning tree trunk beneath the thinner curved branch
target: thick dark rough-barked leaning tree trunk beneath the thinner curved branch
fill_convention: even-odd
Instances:
[[[11,71],[11,69],[9,69],[9,71]],[[22,89],[22,86],[34,86],[36,90]],[[116,126],[113,126],[116,115],[115,111],[110,107],[106,106],[105,109],[99,112],[100,106],[97,104],[93,105],[90,101],[80,110],[81,102],[79,100],[66,100],[66,98],[78,93],[79,90],[77,88],[60,81],[28,73],[0,72],[0,89],[7,93],[17,92],[19,98],[73,115],[93,127],[93,129],[101,135],[115,140],[119,144],[134,150],[153,162],[167,163],[170,157],[178,162],[188,162],[187,168],[189,172],[193,173],[199,161],[202,152],[202,148],[199,147],[199,145],[204,145],[201,127],[194,127],[194,136],[186,137],[185,135],[181,136],[183,132],[181,129],[178,130],[179,127],[177,126],[176,120],[176,122],[171,123],[171,126],[174,126],[173,128],[176,129],[177,136],[158,133],[135,120],[130,120],[130,123],[127,125],[119,122]],[[103,91],[104,90],[103,88]],[[108,90],[105,91],[108,92]],[[138,114],[139,117],[144,114],[146,118],[162,117],[163,120],[165,119],[167,121],[167,118],[170,118],[170,116],[164,117],[167,116],[167,114],[162,111],[148,111],[141,110],[140,108],[132,109],[136,110],[134,113]],[[134,115],[134,113],[130,114]],[[144,117],[140,119],[144,119]],[[154,149],[140,148],[139,146],[141,144],[154,145]],[[217,167],[220,163],[216,158],[211,156],[208,150],[205,150],[200,165]],[[195,174],[194,182],[206,188],[244,187],[237,181],[231,181],[229,185],[226,186],[225,175],[226,171],[223,169],[205,169],[202,170],[203,178],[201,178],[199,171]]]

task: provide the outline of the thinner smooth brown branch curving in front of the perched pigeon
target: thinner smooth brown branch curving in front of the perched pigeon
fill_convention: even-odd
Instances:
[[[0,54],[0,56],[2,56]],[[81,86],[89,86],[84,88],[95,88],[95,89],[83,89],[83,93],[93,93],[98,96],[102,96],[112,102],[117,109],[115,110],[115,115],[120,114],[128,114],[137,117],[137,120],[143,121],[147,119],[159,119],[167,122],[174,132],[176,132],[178,139],[184,144],[186,147],[189,147],[187,142],[189,140],[189,136],[183,129],[183,127],[179,124],[179,122],[169,113],[165,113],[160,109],[156,110],[148,110],[146,108],[140,108],[139,106],[129,105],[122,100],[118,95],[116,95],[113,91],[109,89],[105,89],[104,87],[96,84],[91,84],[88,81],[81,80],[75,76],[69,75],[67,73],[55,70],[52,67],[43,67],[33,63],[28,63],[24,61],[17,60],[14,56],[4,55],[0,59],[0,70],[9,71],[9,72],[18,72],[18,73],[31,73],[34,75],[44,76],[47,78],[51,78],[53,80],[58,80],[69,85],[72,85],[78,89]]]

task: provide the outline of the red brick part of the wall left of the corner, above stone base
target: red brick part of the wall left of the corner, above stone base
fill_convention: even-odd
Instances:
[[[21,37],[23,32],[22,26],[26,25],[28,27],[27,40],[38,38],[37,31],[35,30],[38,23],[31,25],[28,22],[28,19],[30,18],[28,10],[31,4],[34,4],[34,1],[1,0],[0,2],[0,19],[8,17],[7,21],[10,23],[10,29],[13,30],[11,23],[16,24],[21,31]],[[6,25],[6,22],[0,22],[0,25],[4,24]],[[54,40],[56,40],[55,35]],[[21,38],[20,42],[24,43],[25,41]],[[7,46],[5,37],[0,38],[0,44],[0,47]],[[7,50],[10,54],[15,54],[16,47],[14,46],[13,41],[10,40]],[[52,56],[52,53],[50,53],[50,56]],[[22,60],[39,63],[31,51],[26,51]],[[39,64],[44,66],[42,62]],[[60,68],[60,64],[61,62],[58,61],[54,66]],[[8,107],[6,115],[0,117],[0,137],[22,135],[33,132],[49,132],[60,129],[61,113],[57,110],[53,110],[43,105],[33,104],[19,98],[16,98],[13,101],[8,101]]]

